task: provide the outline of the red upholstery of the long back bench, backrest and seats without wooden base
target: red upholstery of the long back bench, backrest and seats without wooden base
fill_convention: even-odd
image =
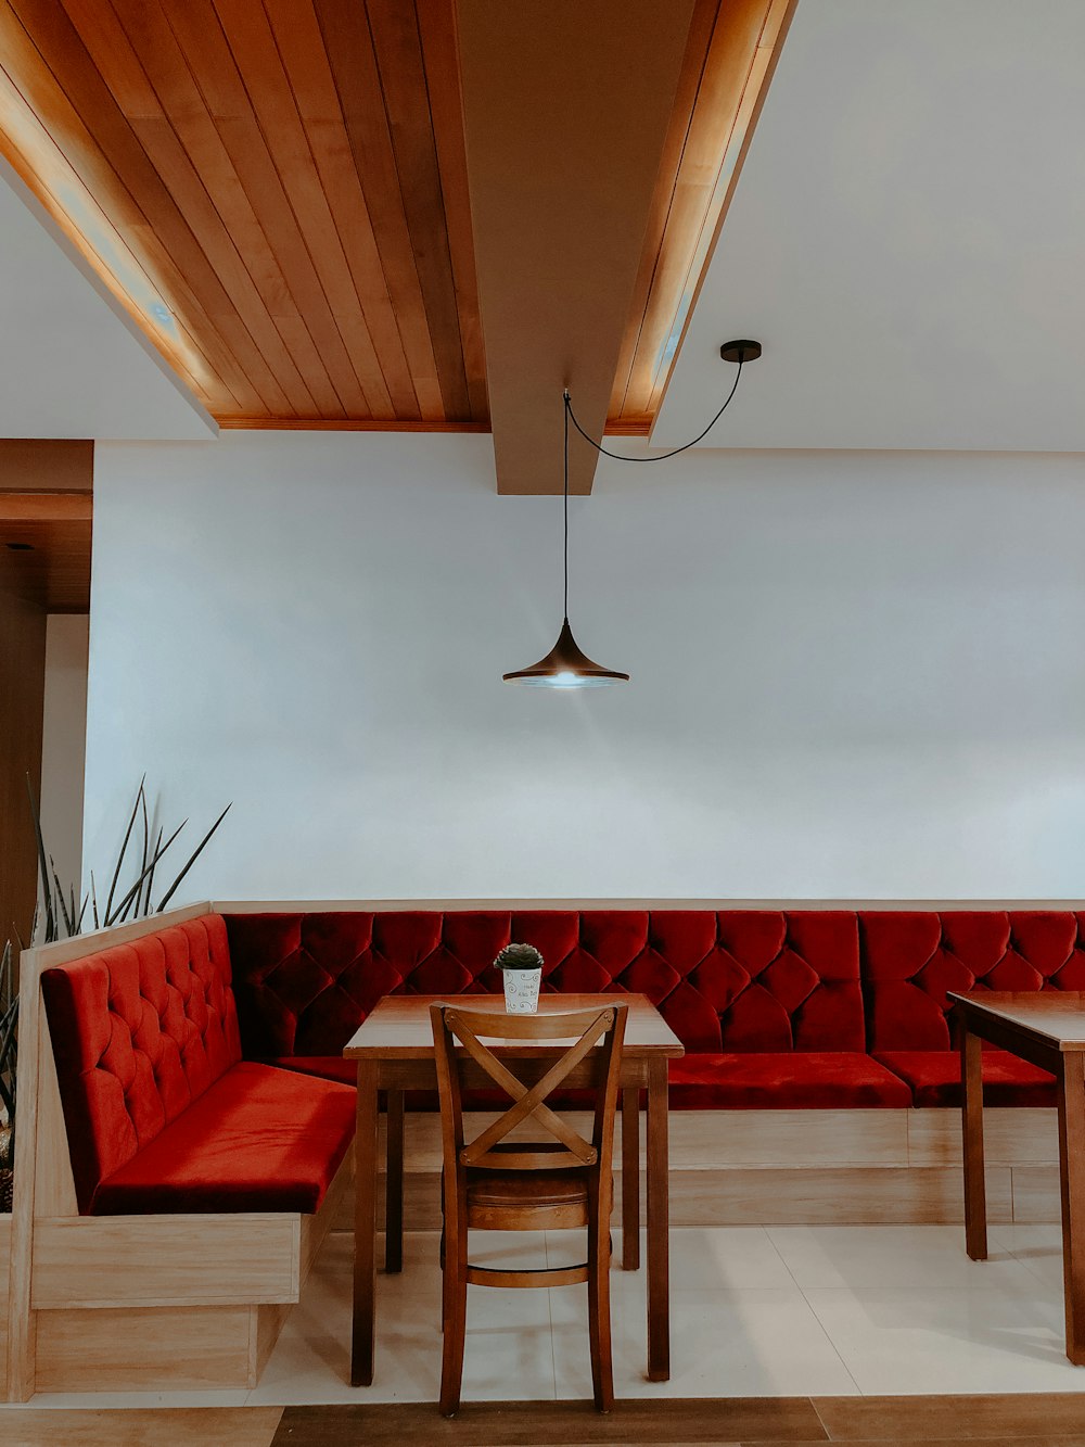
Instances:
[[[509,939],[544,990],[638,991],[687,1055],[674,1108],[959,1101],[948,990],[1085,988],[1069,910],[391,910],[226,915],[246,1056],[353,1079],[343,1045],[383,994],[499,991]],[[994,1106],[1052,1077],[985,1053]],[[420,1104],[420,1103],[415,1103]]]

